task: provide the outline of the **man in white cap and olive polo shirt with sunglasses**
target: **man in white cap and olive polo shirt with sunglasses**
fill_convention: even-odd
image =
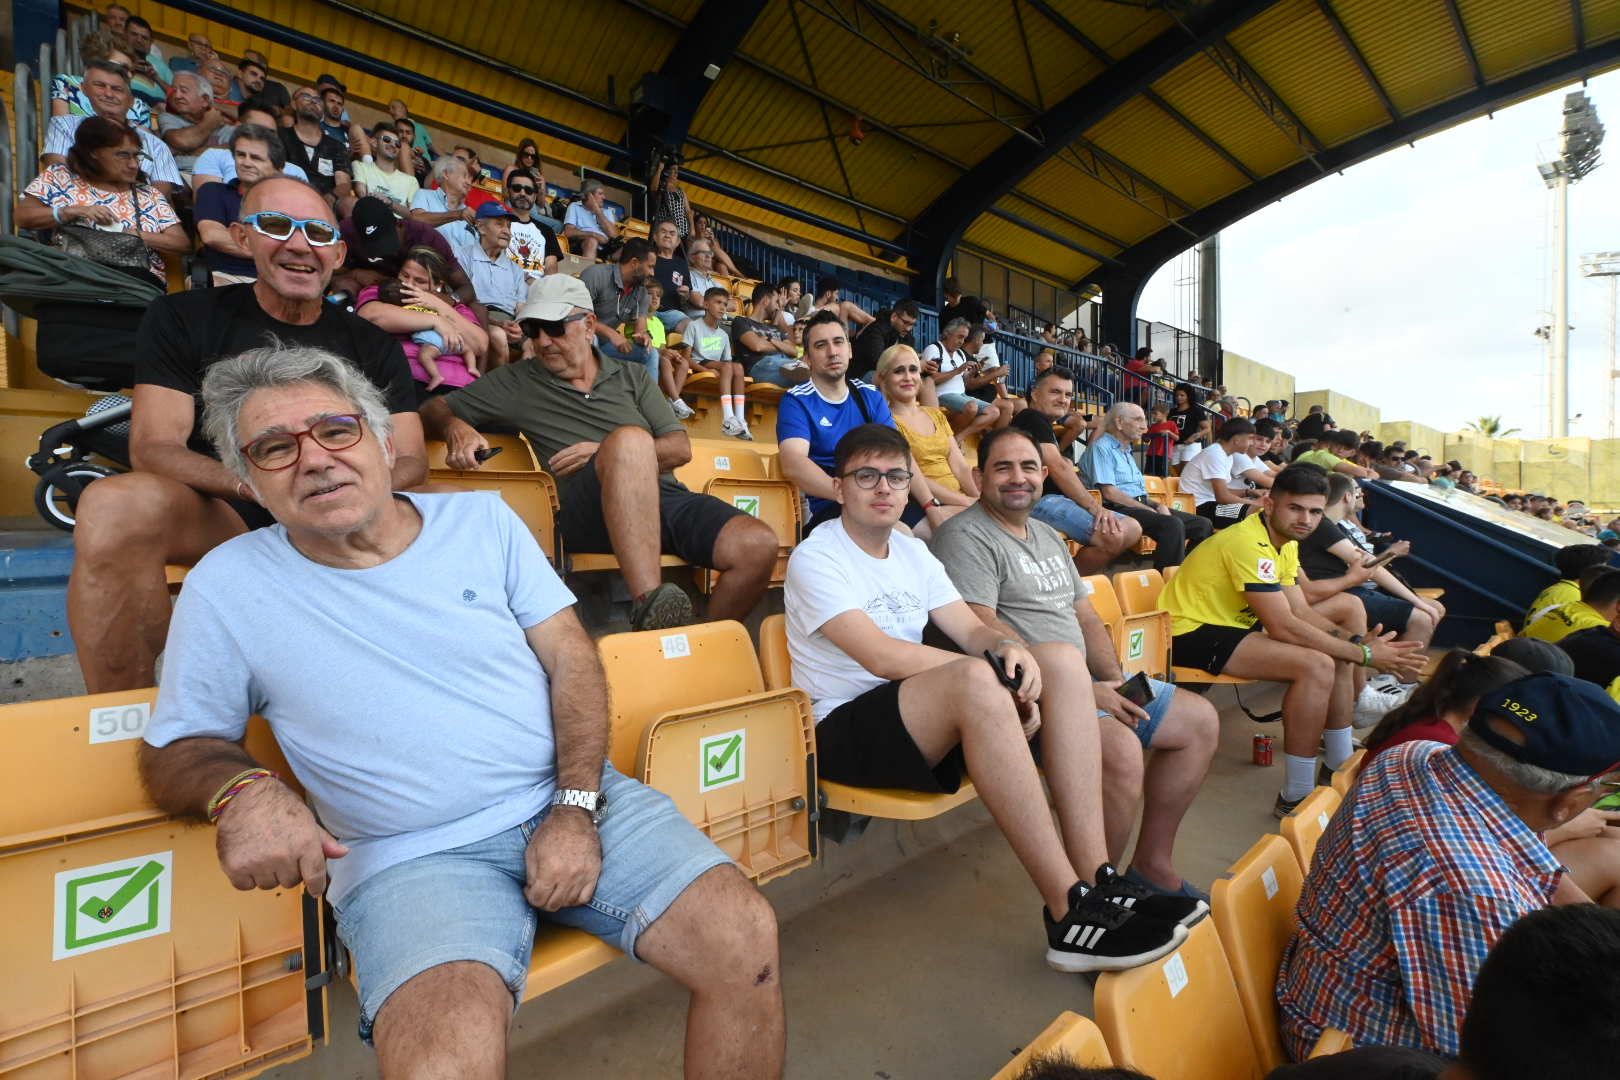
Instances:
[[[428,402],[423,423],[458,470],[476,470],[475,453],[489,445],[480,426],[512,424],[528,436],[557,478],[564,547],[619,560],[635,630],[693,620],[685,591],[661,580],[661,552],[719,570],[708,617],[744,619],[771,580],[776,533],[674,478],[692,458],[692,440],[656,377],[601,351],[595,308],[578,279],[541,279],[517,313],[535,358]]]

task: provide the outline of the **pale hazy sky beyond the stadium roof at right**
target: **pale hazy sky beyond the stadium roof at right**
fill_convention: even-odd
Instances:
[[[1534,330],[1552,322],[1552,202],[1536,162],[1557,154],[1578,87],[1388,151],[1225,230],[1221,343],[1387,421],[1456,431],[1500,416],[1545,434]],[[1604,437],[1609,285],[1584,279],[1580,257],[1620,251],[1620,73],[1586,91],[1609,131],[1605,164],[1570,189],[1570,434]],[[1184,277],[1166,264],[1137,314],[1178,324]]]

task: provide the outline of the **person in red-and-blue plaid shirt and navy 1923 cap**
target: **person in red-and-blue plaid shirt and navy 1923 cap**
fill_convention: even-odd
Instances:
[[[1614,789],[1620,706],[1536,674],[1482,698],[1455,748],[1380,755],[1317,847],[1277,981],[1283,1043],[1322,1030],[1358,1046],[1456,1057],[1486,954],[1523,915],[1589,899],[1541,832]]]

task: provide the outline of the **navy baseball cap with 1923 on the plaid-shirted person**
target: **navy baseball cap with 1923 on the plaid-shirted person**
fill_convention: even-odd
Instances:
[[[1597,683],[1570,675],[1539,672],[1486,695],[1468,730],[1515,761],[1552,772],[1596,777],[1620,766],[1620,704]]]

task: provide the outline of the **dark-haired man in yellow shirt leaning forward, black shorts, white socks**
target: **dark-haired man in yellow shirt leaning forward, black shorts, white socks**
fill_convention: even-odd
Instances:
[[[1199,544],[1158,596],[1171,615],[1171,657],[1213,675],[1286,682],[1283,763],[1273,813],[1286,816],[1317,782],[1317,745],[1336,769],[1351,755],[1358,667],[1416,680],[1424,649],[1369,633],[1366,609],[1340,593],[1315,607],[1294,578],[1298,541],[1322,521],[1327,473],[1291,465],[1277,474],[1260,513]]]

